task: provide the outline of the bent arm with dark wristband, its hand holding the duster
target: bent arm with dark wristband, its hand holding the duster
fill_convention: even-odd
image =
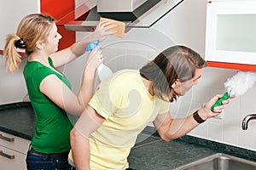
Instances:
[[[214,96],[198,111],[198,115],[201,116],[201,119],[207,120],[208,118],[218,116],[222,112],[224,105],[228,104],[229,100],[224,100],[223,105],[215,107],[214,112],[211,111],[211,106],[220,97],[222,97],[222,95]],[[158,115],[154,120],[154,127],[156,127],[161,139],[165,141],[180,138],[199,124],[200,123],[195,121],[193,114],[183,119],[172,119],[169,111],[166,114]]]

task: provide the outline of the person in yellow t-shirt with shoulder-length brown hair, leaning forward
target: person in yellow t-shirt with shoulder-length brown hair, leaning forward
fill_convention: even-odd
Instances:
[[[169,102],[196,85],[206,66],[194,50],[174,46],[139,71],[117,71],[99,85],[73,127],[71,164],[76,170],[127,169],[131,147],[148,122],[154,122],[161,139],[170,141],[218,116],[224,105],[214,112],[211,106],[220,94],[183,119],[172,119],[169,112]]]

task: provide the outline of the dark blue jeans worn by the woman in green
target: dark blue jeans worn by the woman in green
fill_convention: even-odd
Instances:
[[[67,158],[50,157],[33,154],[31,150],[27,151],[26,156],[27,170],[69,170]]]

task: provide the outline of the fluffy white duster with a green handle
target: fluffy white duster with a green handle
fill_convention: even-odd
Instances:
[[[223,100],[230,99],[230,96],[245,94],[249,88],[253,87],[254,82],[256,82],[256,72],[253,71],[239,71],[235,76],[228,78],[227,82],[224,83],[226,93],[212,105],[211,111],[214,107],[222,105]]]

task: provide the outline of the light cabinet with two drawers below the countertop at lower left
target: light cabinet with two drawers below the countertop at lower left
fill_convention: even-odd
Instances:
[[[0,131],[0,164],[4,170],[25,170],[30,141]]]

